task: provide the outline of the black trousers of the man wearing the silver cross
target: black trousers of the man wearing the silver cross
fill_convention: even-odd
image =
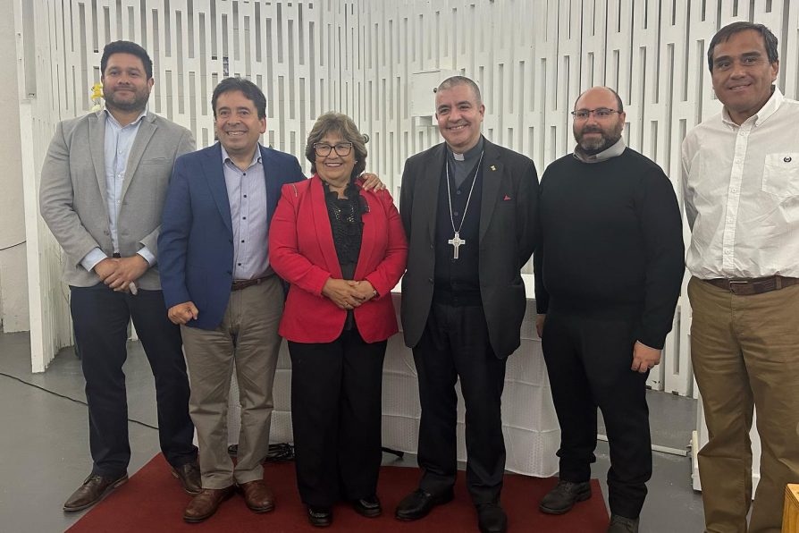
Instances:
[[[505,471],[501,398],[505,360],[488,338],[483,307],[433,302],[425,332],[414,347],[422,419],[419,426],[420,488],[441,494],[458,473],[456,425],[458,396],[466,403],[467,487],[472,500],[500,499]]]

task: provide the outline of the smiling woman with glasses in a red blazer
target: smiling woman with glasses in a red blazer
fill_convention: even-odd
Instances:
[[[291,357],[299,495],[315,526],[349,500],[379,516],[386,340],[397,333],[391,288],[408,243],[388,191],[363,190],[363,135],[323,114],[308,135],[314,176],[286,185],[269,226],[269,262],[290,283],[280,334]]]

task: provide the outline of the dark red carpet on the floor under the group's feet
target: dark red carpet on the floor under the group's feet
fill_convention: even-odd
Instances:
[[[128,483],[114,490],[78,520],[69,531],[460,533],[478,530],[475,507],[468,499],[463,472],[458,472],[453,502],[436,507],[423,520],[395,520],[394,507],[404,495],[416,487],[418,477],[416,469],[383,467],[378,486],[378,495],[383,502],[383,516],[366,519],[356,514],[346,503],[341,503],[333,509],[332,526],[321,529],[314,528],[307,522],[305,507],[300,503],[297,493],[294,463],[269,465],[265,469],[265,478],[274,489],[276,508],[273,512],[250,512],[241,495],[234,495],[210,519],[199,524],[187,524],[183,522],[182,514],[190,496],[182,492],[177,480],[172,478],[164,456],[159,453],[130,478]],[[609,519],[596,480],[592,481],[591,499],[577,503],[571,512],[562,516],[550,516],[538,511],[539,499],[554,484],[554,478],[528,478],[514,474],[505,476],[502,505],[508,512],[510,532],[604,533]]]

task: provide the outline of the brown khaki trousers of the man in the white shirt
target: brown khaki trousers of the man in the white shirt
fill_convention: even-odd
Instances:
[[[753,406],[761,479],[748,531],[778,533],[799,481],[799,285],[752,296],[692,278],[691,357],[710,440],[699,452],[706,531],[743,533],[752,503]]]

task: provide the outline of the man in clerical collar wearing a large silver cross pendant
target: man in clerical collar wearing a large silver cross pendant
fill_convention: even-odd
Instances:
[[[534,250],[538,179],[528,157],[483,138],[484,113],[473,80],[444,80],[435,114],[445,142],[410,157],[402,174],[399,213],[409,250],[401,315],[419,376],[423,474],[396,517],[417,520],[452,499],[459,377],[469,494],[480,530],[501,532],[500,398],[525,315],[520,269]]]

